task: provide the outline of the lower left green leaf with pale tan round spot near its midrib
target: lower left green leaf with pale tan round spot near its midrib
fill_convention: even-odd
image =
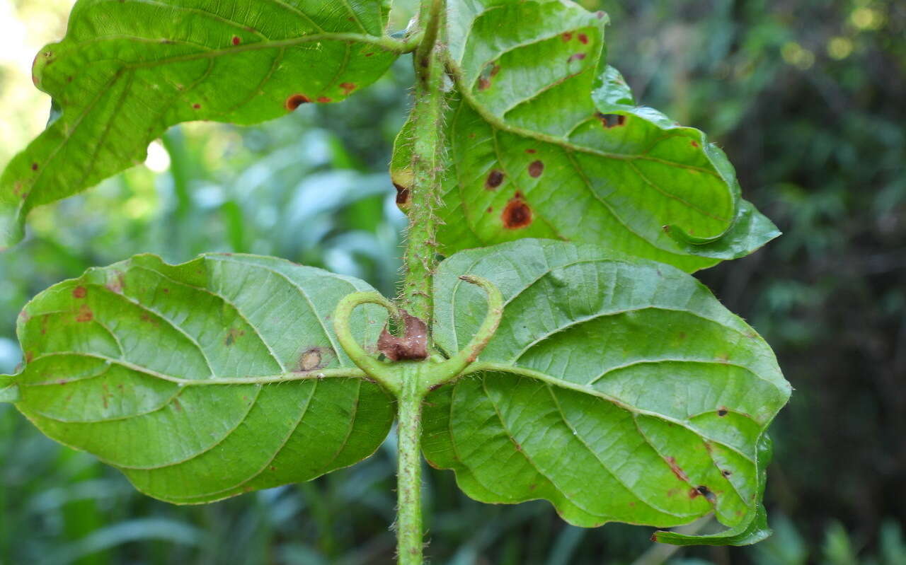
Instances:
[[[393,419],[327,320],[364,282],[254,255],[137,255],[26,305],[15,406],[141,492],[205,503],[371,455]],[[352,317],[374,343],[377,306]]]

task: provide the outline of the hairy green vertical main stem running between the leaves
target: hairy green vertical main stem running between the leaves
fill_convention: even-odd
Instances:
[[[409,232],[403,263],[406,276],[401,302],[409,313],[431,327],[431,283],[437,263],[434,207],[439,200],[443,144],[444,67],[438,53],[443,0],[422,0],[419,20],[424,36],[416,49],[415,106],[412,143]],[[428,347],[431,349],[430,330]],[[404,370],[397,395],[397,559],[400,565],[421,565],[421,405],[427,392],[423,363]]]

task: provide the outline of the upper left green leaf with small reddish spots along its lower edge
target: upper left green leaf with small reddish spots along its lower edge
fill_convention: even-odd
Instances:
[[[80,0],[34,60],[48,128],[0,177],[0,248],[35,206],[144,161],[183,121],[252,124],[305,101],[341,101],[402,50],[384,0]],[[62,110],[62,114],[60,111]]]

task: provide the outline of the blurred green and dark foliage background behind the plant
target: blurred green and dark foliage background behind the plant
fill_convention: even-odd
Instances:
[[[396,29],[412,4],[395,9]],[[610,59],[638,98],[708,131],[786,233],[699,274],[773,344],[796,388],[772,428],[776,533],[754,548],[671,552],[649,529],[567,526],[546,503],[472,502],[430,471],[432,562],[906,564],[906,2],[583,4],[611,14]],[[49,101],[30,63],[71,5],[0,0],[0,166],[43,128]],[[342,105],[173,129],[146,167],[36,211],[28,240],[0,254],[0,370],[19,362],[14,320],[29,297],[130,254],[273,254],[392,294],[405,222],[386,165],[410,79],[400,62]],[[393,474],[390,437],[309,484],[169,506],[0,406],[0,563],[388,563]]]

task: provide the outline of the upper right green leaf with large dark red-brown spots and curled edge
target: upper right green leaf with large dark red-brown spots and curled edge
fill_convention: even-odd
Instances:
[[[704,133],[635,106],[604,67],[606,24],[557,0],[449,3],[444,253],[547,237],[692,272],[779,235]],[[410,139],[392,161],[402,187]]]

